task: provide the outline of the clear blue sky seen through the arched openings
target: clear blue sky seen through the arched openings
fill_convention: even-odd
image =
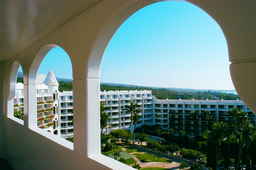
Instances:
[[[112,37],[102,60],[100,81],[151,87],[235,89],[228,49],[218,24],[185,2],[158,2],[128,18]],[[60,47],[43,60],[38,74],[50,69],[72,78],[71,62]]]

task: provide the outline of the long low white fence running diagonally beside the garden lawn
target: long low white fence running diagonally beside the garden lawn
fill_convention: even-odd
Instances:
[[[140,147],[140,146],[135,145],[135,144],[133,145],[133,147],[136,148],[136,149],[139,149],[139,150],[148,152],[148,153],[153,153],[153,154],[158,155],[158,151],[155,151],[155,150],[152,150],[152,149]],[[165,158],[167,158],[167,159],[173,159],[173,160],[176,160],[176,161],[179,161],[179,162],[185,162],[185,163],[190,164],[190,160],[183,159],[183,158],[180,158],[180,157],[176,157],[176,156],[171,155],[171,154],[159,152],[159,156],[165,157]],[[199,163],[196,163],[196,162],[194,162],[194,161],[191,161],[191,165],[192,165],[192,164],[198,164],[198,165],[200,165]],[[202,170],[209,170],[208,168],[206,168],[206,167],[204,167],[204,166],[202,166],[202,165],[201,165],[200,167],[201,167]]]

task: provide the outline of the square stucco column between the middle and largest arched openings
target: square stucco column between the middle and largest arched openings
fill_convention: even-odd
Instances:
[[[87,156],[98,154],[101,152],[100,80],[98,78],[74,79],[73,97],[74,151]]]

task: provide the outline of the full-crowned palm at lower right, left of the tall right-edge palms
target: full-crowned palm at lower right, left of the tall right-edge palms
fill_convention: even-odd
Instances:
[[[221,142],[225,142],[232,138],[232,135],[229,135],[229,130],[225,128],[225,124],[223,122],[214,123],[213,129],[211,131],[205,131],[202,136],[209,141],[217,142],[218,144],[218,155],[217,155],[217,163],[216,170],[218,169],[219,159],[220,159],[220,144]]]

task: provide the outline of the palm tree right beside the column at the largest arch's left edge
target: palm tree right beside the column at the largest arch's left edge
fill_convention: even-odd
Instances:
[[[103,128],[108,128],[112,127],[112,124],[108,124],[108,114],[105,112],[106,110],[110,110],[110,107],[105,107],[105,104],[103,101],[100,102],[100,128],[101,128],[101,133],[100,133],[100,142],[102,142],[102,131]],[[102,143],[100,143],[102,145]]]

